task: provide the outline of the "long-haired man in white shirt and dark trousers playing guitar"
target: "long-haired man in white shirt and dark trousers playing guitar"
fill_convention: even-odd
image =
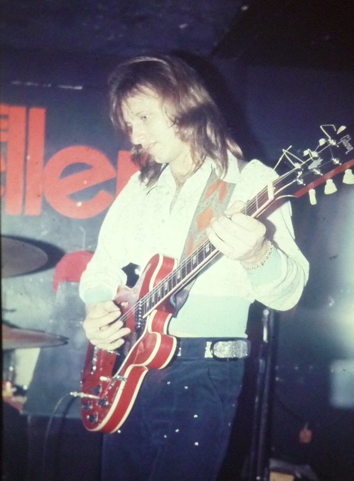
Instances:
[[[134,57],[109,84],[112,121],[131,140],[140,171],[111,206],[80,282],[89,341],[110,351],[127,341],[113,300],[118,286],[127,289],[129,263],[143,268],[156,253],[182,261],[204,238],[220,255],[174,298],[167,333],[178,352],[148,371],[124,424],[105,435],[102,478],[215,480],[249,353],[249,306],[255,299],[277,310],[295,306],[307,261],[289,204],[262,220],[247,215],[245,203],[276,174],[243,160],[191,67],[167,55]]]

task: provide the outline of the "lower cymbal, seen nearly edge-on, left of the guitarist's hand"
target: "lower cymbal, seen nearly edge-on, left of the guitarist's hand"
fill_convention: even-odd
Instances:
[[[65,344],[66,341],[66,337],[59,336],[58,334],[20,329],[2,324],[2,348],[4,350],[59,346]]]

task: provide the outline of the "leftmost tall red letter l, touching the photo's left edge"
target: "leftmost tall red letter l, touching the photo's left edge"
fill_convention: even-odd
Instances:
[[[21,214],[25,170],[26,107],[0,106],[1,142],[7,143],[5,212]],[[3,189],[2,189],[3,190]]]

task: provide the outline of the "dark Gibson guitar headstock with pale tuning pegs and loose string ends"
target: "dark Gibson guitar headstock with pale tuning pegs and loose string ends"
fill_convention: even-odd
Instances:
[[[333,130],[328,134],[327,130]],[[336,131],[334,126],[322,126],[326,138],[319,141],[315,150],[304,151],[302,159],[294,156],[289,149],[283,151],[293,169],[282,175],[275,182],[275,195],[292,195],[300,197],[306,192],[310,194],[310,202],[316,204],[315,188],[326,183],[326,194],[336,191],[332,178],[344,172],[343,183],[354,184],[354,131],[341,127]]]

